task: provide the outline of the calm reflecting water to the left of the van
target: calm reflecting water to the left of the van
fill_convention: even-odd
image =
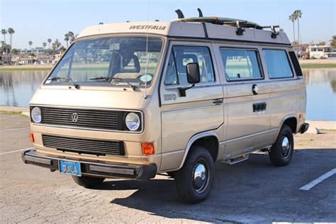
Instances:
[[[1,71],[0,104],[28,106],[48,71]]]

